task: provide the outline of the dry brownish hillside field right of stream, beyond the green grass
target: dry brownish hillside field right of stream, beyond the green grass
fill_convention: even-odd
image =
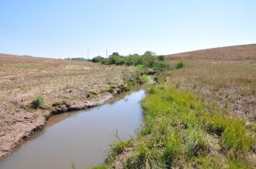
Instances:
[[[183,52],[168,61],[185,62],[184,69],[168,72],[168,81],[216,101],[247,123],[256,120],[256,45],[230,46]]]

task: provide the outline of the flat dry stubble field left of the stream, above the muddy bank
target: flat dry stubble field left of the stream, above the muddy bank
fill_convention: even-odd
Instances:
[[[55,101],[86,100],[95,93],[123,83],[123,66],[0,55],[0,116],[22,113],[36,96],[43,96],[43,106]]]

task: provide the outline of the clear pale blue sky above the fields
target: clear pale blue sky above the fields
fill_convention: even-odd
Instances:
[[[0,52],[170,54],[256,43],[255,0],[1,0]]]

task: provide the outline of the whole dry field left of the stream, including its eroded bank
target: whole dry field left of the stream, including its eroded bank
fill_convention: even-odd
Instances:
[[[133,67],[0,54],[0,159],[52,114],[105,103],[135,73]],[[37,96],[43,104],[33,109]]]

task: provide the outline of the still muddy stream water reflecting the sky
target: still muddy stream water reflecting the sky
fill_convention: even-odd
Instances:
[[[99,165],[116,133],[122,140],[136,137],[142,122],[140,100],[145,90],[123,93],[90,110],[51,117],[42,132],[4,161],[1,169],[77,169]]]

